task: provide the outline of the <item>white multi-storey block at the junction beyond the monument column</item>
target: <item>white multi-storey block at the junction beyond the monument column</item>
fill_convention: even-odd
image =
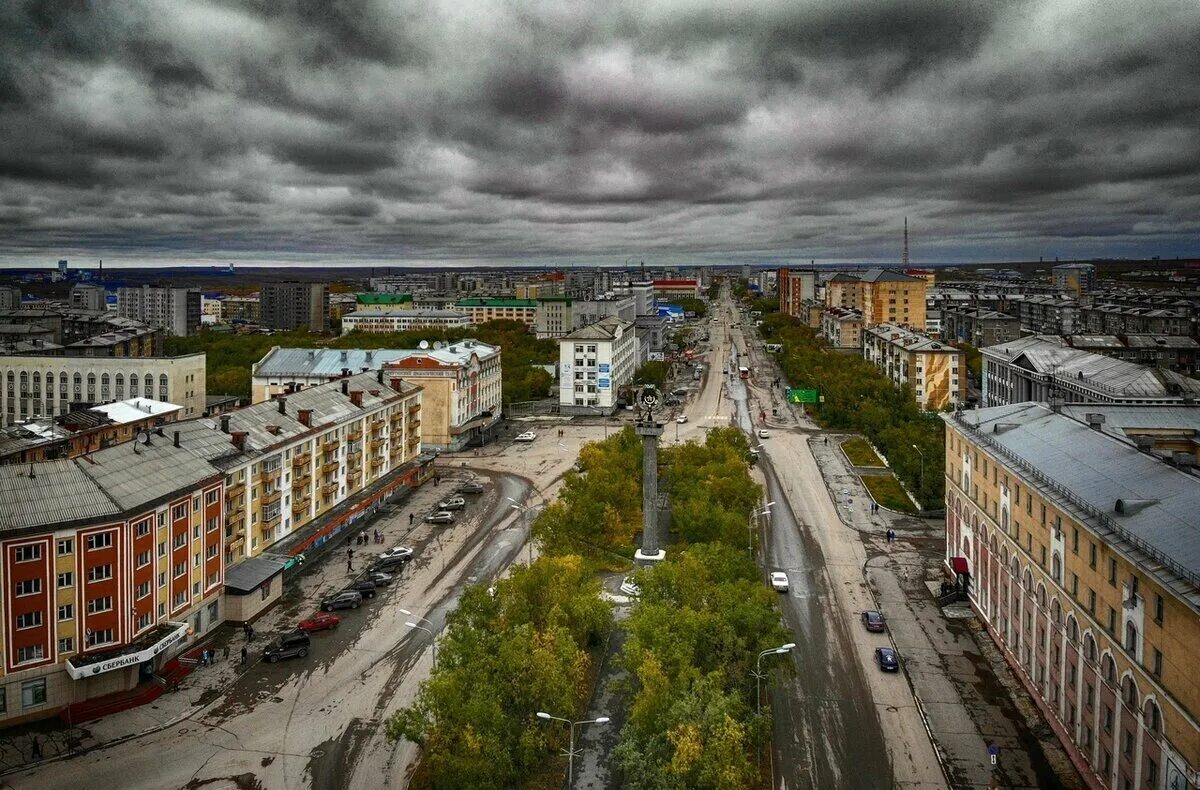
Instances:
[[[558,403],[565,413],[602,413],[637,369],[637,334],[620,318],[601,318],[558,341]]]

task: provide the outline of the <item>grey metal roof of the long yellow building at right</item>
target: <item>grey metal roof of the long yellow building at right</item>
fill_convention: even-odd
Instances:
[[[1082,508],[1099,534],[1112,529],[1115,545],[1142,568],[1178,575],[1186,587],[1175,588],[1200,604],[1200,478],[1042,403],[956,412],[946,419],[985,449],[1001,448],[998,455],[1015,461],[1018,469],[1032,469],[1031,479],[1045,484],[1068,509]],[[1147,504],[1118,515],[1117,499]]]

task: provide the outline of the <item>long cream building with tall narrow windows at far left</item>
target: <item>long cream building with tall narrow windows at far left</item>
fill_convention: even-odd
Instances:
[[[204,412],[204,354],[182,357],[0,357],[0,426],[128,397]]]

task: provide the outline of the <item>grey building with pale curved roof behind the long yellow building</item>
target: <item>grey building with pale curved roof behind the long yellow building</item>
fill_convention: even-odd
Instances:
[[[1066,403],[1183,403],[1200,396],[1200,381],[1072,348],[1062,337],[1033,335],[979,351],[984,406],[1051,399]]]

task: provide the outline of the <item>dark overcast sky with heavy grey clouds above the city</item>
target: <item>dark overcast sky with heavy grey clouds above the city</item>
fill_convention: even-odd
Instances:
[[[746,5],[748,8],[739,6]],[[1200,256],[1200,2],[0,2],[0,265]]]

